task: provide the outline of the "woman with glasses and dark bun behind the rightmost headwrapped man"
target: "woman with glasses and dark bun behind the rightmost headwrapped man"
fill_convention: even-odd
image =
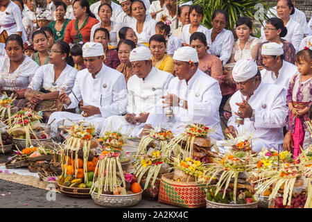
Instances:
[[[287,28],[284,26],[284,22],[279,18],[270,18],[266,21],[266,26],[264,27],[264,34],[266,36],[266,42],[261,42],[259,44],[257,65],[258,69],[263,69],[262,56],[261,56],[261,46],[268,42],[276,42],[277,44],[283,44],[284,50],[284,60],[295,64],[295,47],[291,42],[282,39],[287,34]]]

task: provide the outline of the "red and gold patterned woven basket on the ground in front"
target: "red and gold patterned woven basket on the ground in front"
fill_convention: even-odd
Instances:
[[[209,189],[206,184],[175,182],[171,180],[172,178],[173,173],[166,173],[162,176],[159,186],[159,203],[186,208],[205,207],[205,189]]]

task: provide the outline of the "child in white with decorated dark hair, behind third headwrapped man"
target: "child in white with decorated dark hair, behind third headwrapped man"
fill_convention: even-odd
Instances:
[[[168,20],[164,20],[164,22],[157,22],[155,26],[156,35],[163,35],[167,42],[166,54],[168,56],[173,56],[175,50],[179,49],[182,46],[182,41],[170,34],[170,22]]]

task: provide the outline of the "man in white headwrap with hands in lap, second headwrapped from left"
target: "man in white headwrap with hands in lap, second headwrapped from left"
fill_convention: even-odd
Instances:
[[[130,52],[130,62],[135,69],[135,76],[129,78],[127,114],[124,117],[112,116],[105,120],[101,134],[106,130],[119,130],[121,133],[130,132],[137,137],[144,128],[146,119],[160,100],[172,74],[153,67],[150,60],[152,54],[146,46],[139,46]]]

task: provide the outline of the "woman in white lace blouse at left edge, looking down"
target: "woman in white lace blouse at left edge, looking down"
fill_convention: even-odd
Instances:
[[[21,37],[12,34],[6,39],[6,56],[0,58],[0,89],[15,92],[17,99],[24,98],[24,92],[39,67],[31,58],[23,55],[23,49]]]

